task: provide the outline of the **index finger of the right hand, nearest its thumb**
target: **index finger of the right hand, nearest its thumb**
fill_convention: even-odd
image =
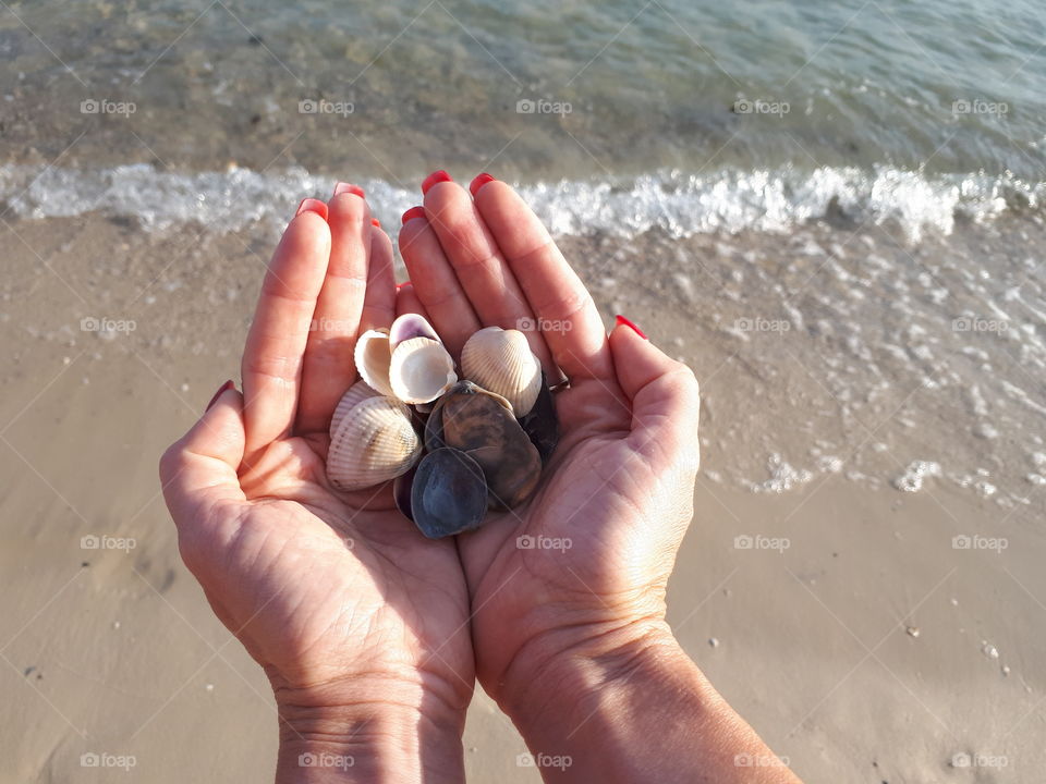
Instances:
[[[481,182],[475,201],[534,310],[556,364],[572,382],[612,380],[607,333],[592,295],[537,216],[499,180]]]

